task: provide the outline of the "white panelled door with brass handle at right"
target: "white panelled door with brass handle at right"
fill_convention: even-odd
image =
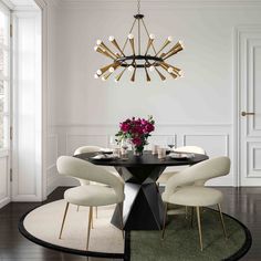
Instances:
[[[237,32],[240,186],[261,186],[261,27]]]

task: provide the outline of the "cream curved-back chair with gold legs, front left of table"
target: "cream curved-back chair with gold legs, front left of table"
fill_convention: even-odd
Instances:
[[[86,184],[85,186],[79,186],[70,188],[64,192],[64,199],[66,201],[62,226],[59,238],[62,237],[62,231],[69,209],[69,205],[88,207],[88,229],[87,229],[87,242],[86,250],[88,249],[91,223],[93,219],[93,207],[108,206],[118,203],[118,215],[123,231],[123,201],[124,201],[124,180],[119,176],[115,176],[106,169],[95,166],[83,159],[79,159],[71,156],[61,156],[58,159],[58,170],[61,175],[71,176],[88,181],[95,181],[104,184],[105,186]]]

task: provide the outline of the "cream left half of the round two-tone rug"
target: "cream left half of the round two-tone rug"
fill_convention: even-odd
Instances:
[[[65,201],[58,200],[43,205],[30,211],[23,219],[23,234],[34,241],[41,241],[44,247],[61,247],[63,251],[72,249],[79,253],[86,251],[88,208],[70,205],[62,238],[59,232],[62,225]],[[91,229],[88,254],[123,258],[125,241],[122,231],[111,225],[114,206],[98,207],[97,218],[94,211],[93,229]],[[92,255],[92,254],[91,254]]]

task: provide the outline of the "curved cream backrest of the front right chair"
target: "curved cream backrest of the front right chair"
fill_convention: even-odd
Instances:
[[[229,157],[216,157],[177,173],[168,179],[165,187],[165,197],[173,195],[177,187],[228,175],[230,164]]]

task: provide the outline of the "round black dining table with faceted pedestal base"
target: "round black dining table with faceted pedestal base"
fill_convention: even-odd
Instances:
[[[164,202],[156,184],[166,167],[195,165],[208,159],[207,155],[194,154],[188,158],[159,159],[157,155],[146,150],[142,156],[133,152],[124,158],[93,159],[98,153],[84,153],[75,157],[95,165],[113,166],[125,181],[123,205],[124,230],[159,230],[164,222]],[[116,208],[119,208],[117,206]],[[115,209],[112,223],[121,228],[118,210]]]

